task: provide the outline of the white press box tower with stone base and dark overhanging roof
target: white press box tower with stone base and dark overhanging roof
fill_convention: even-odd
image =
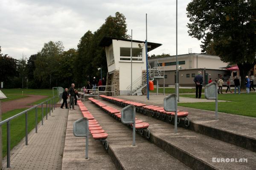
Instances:
[[[99,45],[105,47],[106,51],[108,63],[107,85],[115,86],[116,95],[130,94],[131,85],[133,95],[141,93],[142,88],[145,88],[143,83],[145,80],[146,54],[143,42],[133,40],[131,60],[131,40],[102,38]],[[139,44],[142,44],[141,47],[139,47]],[[148,51],[152,51],[160,45],[162,44],[148,42]]]

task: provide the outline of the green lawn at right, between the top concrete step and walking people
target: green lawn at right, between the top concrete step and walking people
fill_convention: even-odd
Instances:
[[[180,95],[182,97],[192,97],[193,95]],[[202,95],[204,98],[204,95]],[[251,94],[219,94],[219,100],[226,100],[230,102],[218,102],[218,111],[224,113],[237,114],[242,116],[256,117],[256,93]],[[198,103],[179,103],[179,106],[188,108],[197,108],[208,111],[215,111],[214,102],[198,102]]]

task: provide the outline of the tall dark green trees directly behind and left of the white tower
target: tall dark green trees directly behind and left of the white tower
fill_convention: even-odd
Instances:
[[[99,47],[99,42],[103,37],[130,38],[127,33],[126,18],[123,14],[116,12],[115,16],[106,18],[105,23],[93,34],[87,31],[78,44],[78,57],[80,71],[76,73],[76,80],[79,85],[84,83],[89,77],[100,77],[97,68],[102,68],[102,76],[105,77],[108,71],[105,49]],[[90,63],[89,65],[87,63]],[[80,79],[79,79],[80,76]]]

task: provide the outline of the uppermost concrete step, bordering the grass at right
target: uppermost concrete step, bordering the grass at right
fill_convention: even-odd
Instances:
[[[141,101],[125,96],[119,96],[119,98],[163,107],[163,100],[156,102]],[[178,110],[188,111],[190,119],[189,127],[185,127],[183,120],[180,121],[180,127],[256,152],[256,118],[219,113],[219,119],[215,120],[215,113],[213,111],[185,107],[178,107]],[[151,113],[147,113],[147,116],[151,116]],[[154,118],[159,119],[156,114]],[[167,117],[162,121],[168,122]]]

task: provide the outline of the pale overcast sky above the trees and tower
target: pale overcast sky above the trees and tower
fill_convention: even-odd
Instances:
[[[188,49],[200,53],[200,41],[189,37],[186,6],[178,0],[178,54]],[[163,44],[150,54],[176,54],[176,0],[1,0],[0,46],[3,54],[20,59],[41,50],[45,42],[62,41],[65,50],[77,48],[87,30],[96,31],[109,15],[124,14],[128,34],[145,40],[145,13],[148,14],[148,41]]]

